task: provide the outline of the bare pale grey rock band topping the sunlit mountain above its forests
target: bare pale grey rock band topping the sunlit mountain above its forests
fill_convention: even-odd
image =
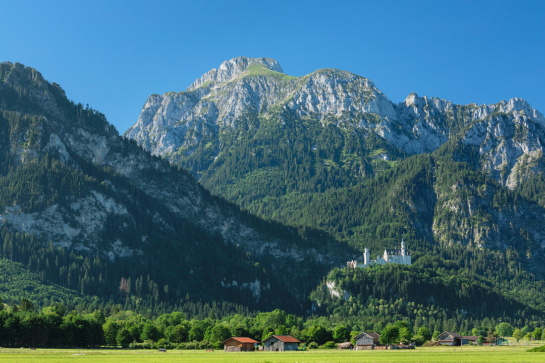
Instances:
[[[219,155],[221,136],[237,132],[248,113],[278,119],[282,110],[324,127],[356,129],[362,137],[378,135],[407,154],[432,152],[461,138],[479,149],[482,170],[511,188],[545,166],[545,118],[523,99],[456,105],[411,93],[396,105],[373,82],[351,72],[320,69],[292,77],[270,58],[233,58],[185,92],[149,96],[124,135],[175,163],[204,139]]]

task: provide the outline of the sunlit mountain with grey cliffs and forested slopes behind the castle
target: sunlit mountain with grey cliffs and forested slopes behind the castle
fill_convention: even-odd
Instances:
[[[293,77],[238,57],[185,92],[149,96],[125,136],[252,213],[358,249],[407,235],[417,250],[512,249],[540,267],[545,189],[519,190],[542,175],[545,118],[523,99],[393,104],[351,72]]]

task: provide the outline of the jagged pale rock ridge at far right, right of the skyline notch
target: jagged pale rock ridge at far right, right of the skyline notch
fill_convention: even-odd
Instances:
[[[523,99],[461,106],[413,93],[397,110],[405,133],[421,141],[420,147],[414,143],[410,147],[399,145],[411,154],[432,151],[456,137],[475,146],[482,170],[510,188],[525,176],[543,170],[545,118]],[[529,172],[525,176],[523,169]]]

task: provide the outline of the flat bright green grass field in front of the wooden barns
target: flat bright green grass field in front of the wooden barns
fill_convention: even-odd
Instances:
[[[0,349],[0,362],[543,362],[529,347],[417,348],[415,350],[310,350],[307,352],[224,353],[202,350]]]

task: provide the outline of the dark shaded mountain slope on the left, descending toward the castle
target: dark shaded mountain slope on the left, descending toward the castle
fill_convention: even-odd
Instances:
[[[15,236],[3,257],[47,265],[45,278],[83,294],[298,310],[350,256],[325,233],[265,222],[211,196],[19,63],[0,63],[0,137],[3,233]]]

